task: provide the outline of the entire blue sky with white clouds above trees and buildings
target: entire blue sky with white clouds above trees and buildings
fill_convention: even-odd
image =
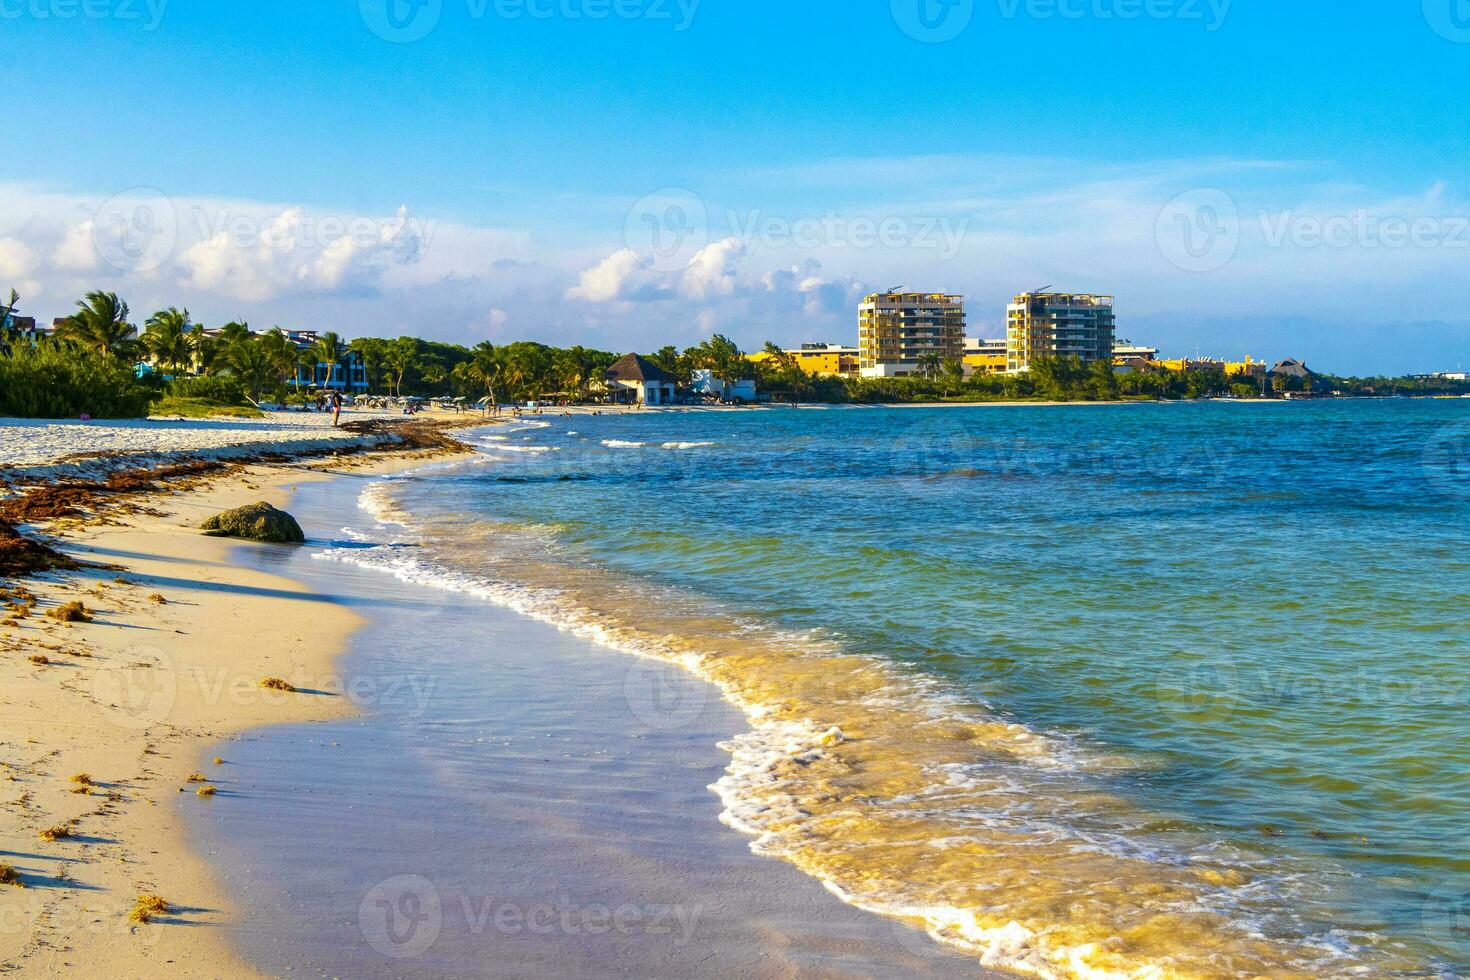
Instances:
[[[1470,366],[1470,0],[0,0],[0,289],[614,351],[863,294]]]

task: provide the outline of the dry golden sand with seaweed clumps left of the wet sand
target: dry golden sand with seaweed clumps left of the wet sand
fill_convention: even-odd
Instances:
[[[212,745],[350,710],[313,693],[312,679],[334,677],[362,620],[235,561],[248,542],[197,526],[257,500],[285,505],[295,486],[337,467],[391,473],[426,461],[400,450],[245,464],[47,529],[84,564],[7,583],[37,605],[0,629],[0,862],[24,886],[0,887],[0,971],[162,976],[190,964],[216,977],[262,976],[218,929],[235,909],[215,868],[187,846],[179,808],[228,805],[228,758],[209,763]],[[93,621],[46,616],[72,601]],[[303,693],[262,688],[269,676],[304,679]],[[196,771],[218,798],[197,795]],[[85,783],[74,780],[82,774]],[[50,827],[71,836],[46,840]],[[176,911],[129,921],[141,895]]]

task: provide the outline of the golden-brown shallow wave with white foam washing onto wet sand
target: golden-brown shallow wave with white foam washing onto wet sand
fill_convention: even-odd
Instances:
[[[413,523],[397,489],[376,483],[360,502],[382,523]],[[1297,921],[1295,889],[1320,882],[1298,880],[1279,857],[1208,835],[1144,835],[1155,817],[1110,789],[1127,761],[1010,721],[839,638],[547,561],[534,529],[482,522],[472,533],[463,522],[438,536],[417,525],[425,548],[319,557],[472,595],[713,683],[751,726],[722,745],[731,763],[711,786],[722,821],[845,902],[988,967],[1058,980],[1401,967]],[[490,554],[491,541],[507,551]]]

